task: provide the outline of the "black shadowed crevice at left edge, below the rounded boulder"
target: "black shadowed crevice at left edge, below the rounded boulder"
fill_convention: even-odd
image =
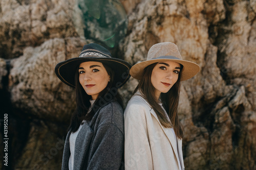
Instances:
[[[8,166],[2,164],[2,169],[14,169],[16,160],[22,155],[22,150],[28,141],[30,131],[30,120],[24,116],[23,112],[15,109],[11,103],[11,94],[8,91],[8,77],[10,72],[10,60],[6,61],[7,75],[2,78],[2,86],[0,89],[0,110],[1,116],[1,139],[8,140]],[[8,133],[4,133],[4,116],[8,116]],[[3,119],[2,119],[3,118]],[[2,142],[3,143],[3,142]],[[1,156],[4,154],[4,149],[1,150]],[[2,162],[1,162],[2,163]]]

